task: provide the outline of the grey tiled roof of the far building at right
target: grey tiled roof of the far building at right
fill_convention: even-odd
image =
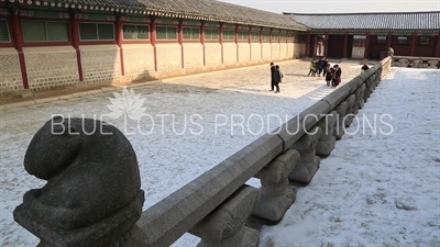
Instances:
[[[440,11],[406,13],[284,13],[311,30],[440,30]]]

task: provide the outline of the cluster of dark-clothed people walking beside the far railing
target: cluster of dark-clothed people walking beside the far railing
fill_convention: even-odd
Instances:
[[[321,74],[326,78],[327,87],[336,88],[341,82],[342,69],[338,64],[331,66],[327,58],[314,58],[307,76],[320,77]]]

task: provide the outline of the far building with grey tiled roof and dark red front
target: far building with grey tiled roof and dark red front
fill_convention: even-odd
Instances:
[[[307,56],[380,59],[393,47],[398,56],[440,57],[440,11],[284,14],[307,26]]]

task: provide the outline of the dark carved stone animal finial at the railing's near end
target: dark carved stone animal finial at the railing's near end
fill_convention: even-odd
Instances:
[[[14,211],[40,246],[120,245],[142,213],[136,155],[105,122],[54,117],[31,141],[24,168],[47,180]]]

